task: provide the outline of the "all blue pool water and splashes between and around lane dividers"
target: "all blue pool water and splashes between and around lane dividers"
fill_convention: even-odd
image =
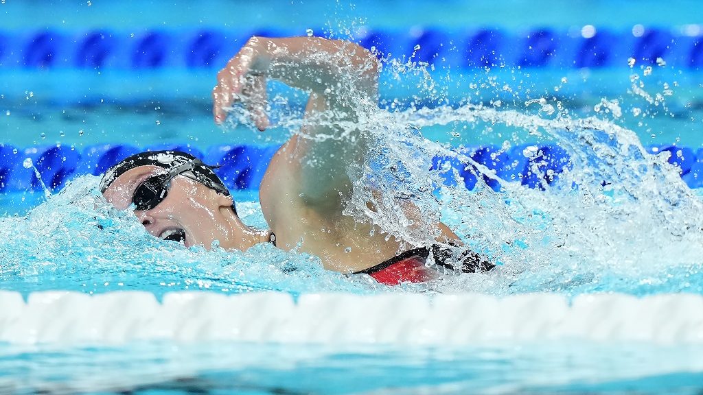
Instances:
[[[162,27],[176,31],[216,27],[240,32],[277,27],[303,34],[307,28],[323,30],[326,22],[331,21],[337,29],[363,18],[366,25],[378,30],[405,31],[422,25],[459,31],[492,26],[518,34],[541,26],[567,32],[574,26],[580,30],[592,24],[627,32],[636,24],[677,30],[703,22],[697,16],[702,15],[697,12],[702,11],[701,6],[694,1],[677,6],[661,1],[626,2],[622,4],[625,11],[617,12],[616,17],[614,6],[592,1],[569,5],[456,2],[443,6],[200,1],[176,4],[175,10],[173,4],[155,1],[131,6],[133,9],[127,11],[127,6],[99,1],[56,1],[44,4],[46,12],[37,13],[26,4],[6,1],[0,4],[0,24],[13,34],[30,34],[46,27],[67,32],[110,27],[136,34]],[[689,11],[683,13],[683,9]],[[675,168],[638,155],[637,150],[638,144],[676,143],[694,150],[703,146],[703,75],[676,65],[653,65],[650,72],[648,65],[492,70],[437,65],[428,74],[441,88],[439,96],[423,86],[427,79],[422,72],[411,70],[396,79],[393,67],[386,68],[381,104],[396,111],[390,124],[418,124],[423,138],[438,141],[443,148],[500,146],[506,141],[510,148],[523,143],[566,143],[572,156],[576,154],[583,161],[562,183],[546,191],[510,185],[502,195],[491,193],[489,188],[441,191],[443,219],[460,229],[468,242],[497,251],[503,268],[494,273],[389,289],[363,278],[324,271],[316,257],[282,252],[270,245],[246,253],[205,252],[198,247],[188,250],[151,237],[134,216],[110,209],[95,190],[96,177],[84,176],[49,198],[42,191],[12,191],[0,196],[0,212],[6,214],[0,219],[4,240],[0,246],[0,289],[25,297],[41,290],[87,294],[146,290],[158,298],[177,290],[226,294],[276,290],[295,296],[311,292],[483,292],[503,296],[546,291],[567,298],[593,292],[703,294],[699,193],[681,183]],[[0,141],[20,148],[61,144],[77,150],[95,143],[129,142],[146,147],[176,142],[205,151],[228,143],[276,145],[290,136],[285,117],[301,110],[301,96],[274,105],[278,127],[266,134],[245,125],[214,127],[208,94],[215,70],[217,67],[35,70],[4,65],[0,67]],[[668,89],[673,93],[664,98],[666,105],[652,105],[633,89],[636,87],[652,96]],[[291,93],[271,86],[271,97]],[[597,110],[601,98],[617,100],[617,106]],[[484,108],[475,110],[467,103],[483,103]],[[546,105],[552,106],[553,112]],[[413,111],[425,106],[430,108],[429,115]],[[614,116],[616,108],[622,115]],[[600,151],[596,155],[597,150],[583,143],[588,133],[565,133],[559,123],[564,115],[574,122],[601,119],[595,124],[614,134],[617,143],[605,139],[597,141],[602,145],[595,145],[614,149],[615,160],[607,162],[607,155]],[[437,148],[424,146],[422,141],[413,141],[418,142],[418,151],[413,153]],[[635,149],[621,149],[631,143]],[[602,180],[617,182],[604,189],[600,188]],[[579,188],[572,189],[572,182]],[[589,193],[595,202],[589,200]],[[255,197],[255,191],[237,193],[238,211],[247,224],[264,226]],[[477,229],[482,234],[473,237]],[[496,247],[505,240],[513,241],[512,247]],[[703,378],[700,351],[690,346],[607,341],[515,342],[456,349],[226,342],[114,347],[1,344],[0,391],[699,394]]]

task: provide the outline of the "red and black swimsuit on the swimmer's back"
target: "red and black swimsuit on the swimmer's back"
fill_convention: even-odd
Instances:
[[[427,257],[432,249],[433,264],[427,264]],[[376,266],[357,271],[354,274],[368,274],[376,281],[386,285],[398,285],[400,283],[425,283],[434,280],[439,276],[439,268],[454,270],[453,264],[448,260],[452,257],[452,252],[447,247],[432,245],[432,247],[420,247],[408,250],[397,257],[388,259]],[[478,273],[489,271],[496,265],[491,264],[486,257],[467,250],[460,254],[458,261],[461,262],[463,273]]]

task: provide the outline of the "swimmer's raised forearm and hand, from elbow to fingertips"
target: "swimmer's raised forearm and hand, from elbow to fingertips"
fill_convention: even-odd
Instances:
[[[354,115],[341,100],[351,91],[378,101],[378,60],[365,48],[321,37],[252,37],[217,74],[215,122],[224,122],[226,109],[241,102],[257,128],[266,129],[267,78],[309,91],[342,115]]]

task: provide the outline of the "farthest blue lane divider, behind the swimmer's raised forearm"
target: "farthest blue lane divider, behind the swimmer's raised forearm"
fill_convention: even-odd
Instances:
[[[323,30],[314,30],[322,34]],[[510,32],[492,27],[463,30],[434,27],[356,33],[359,44],[396,58],[452,67],[703,67],[701,25],[642,26],[609,30],[587,25],[576,30],[539,27]],[[304,30],[152,29],[138,33],[104,29],[67,31],[0,30],[0,71],[37,68],[145,70],[222,67],[248,37],[301,36]]]

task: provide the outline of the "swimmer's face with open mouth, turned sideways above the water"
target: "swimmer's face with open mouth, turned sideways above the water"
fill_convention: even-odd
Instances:
[[[103,195],[115,208],[127,209],[141,183],[165,172],[150,165],[130,169],[117,177]],[[230,196],[179,175],[172,179],[162,202],[151,209],[135,210],[134,214],[158,238],[181,241],[186,247],[202,245],[208,250],[218,240],[223,248],[244,251],[258,240],[254,240],[254,231],[242,224],[231,206]]]

